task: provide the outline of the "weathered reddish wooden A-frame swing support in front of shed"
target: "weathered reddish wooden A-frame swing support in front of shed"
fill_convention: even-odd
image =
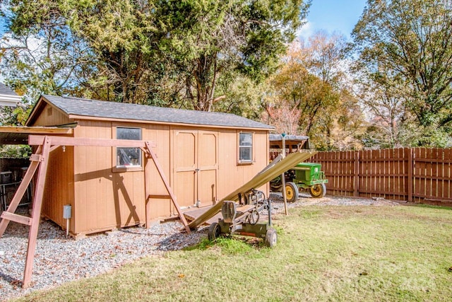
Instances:
[[[28,167],[27,172],[25,173],[22,182],[14,194],[11,203],[8,206],[6,211],[3,211],[0,218],[0,238],[5,233],[6,227],[8,226],[9,221],[15,221],[17,223],[22,223],[27,226],[30,226],[30,231],[28,233],[28,248],[27,248],[27,257],[25,260],[25,269],[23,272],[23,288],[27,288],[30,286],[32,270],[33,270],[33,261],[35,260],[35,249],[36,249],[36,240],[37,240],[37,231],[40,224],[40,216],[41,216],[41,208],[42,208],[42,197],[44,195],[44,184],[47,175],[47,167],[49,164],[49,155],[50,152],[56,149],[58,146],[118,146],[118,147],[129,147],[129,148],[140,148],[144,151],[146,158],[152,158],[155,167],[160,174],[160,178],[162,178],[163,183],[169,193],[169,197],[172,199],[174,207],[177,209],[177,213],[179,217],[184,223],[184,227],[188,233],[190,233],[190,228],[188,223],[186,222],[185,216],[182,214],[182,210],[177,204],[177,199],[174,193],[172,192],[172,188],[169,186],[169,182],[163,173],[162,167],[160,163],[157,161],[157,157],[155,153],[151,149],[151,143],[149,141],[133,141],[133,140],[125,140],[125,139],[83,139],[83,138],[73,138],[73,137],[42,137],[37,135],[30,135],[28,138],[28,144],[31,146],[38,146],[35,153],[30,156],[30,166]],[[153,144],[155,145],[155,144]],[[39,168],[39,170],[38,170]],[[150,198],[150,185],[148,182],[150,181],[150,167],[147,165],[147,161],[145,162],[145,196],[146,196],[146,226],[148,226],[149,219],[149,211],[150,205],[148,199]],[[32,202],[32,214],[31,217],[21,216],[18,214],[14,214],[20,200],[25,194],[28,185],[35,175],[36,170],[37,180],[35,186],[35,196],[33,197]],[[148,180],[148,181],[147,181]]]

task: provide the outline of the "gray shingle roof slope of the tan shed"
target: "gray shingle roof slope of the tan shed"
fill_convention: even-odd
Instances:
[[[177,124],[202,124],[220,127],[273,129],[268,124],[249,120],[230,113],[161,108],[54,95],[42,96],[57,108],[66,112],[67,115]]]

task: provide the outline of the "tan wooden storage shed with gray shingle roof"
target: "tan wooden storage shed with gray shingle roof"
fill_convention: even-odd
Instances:
[[[71,137],[154,141],[154,153],[182,209],[206,207],[250,180],[268,164],[266,124],[237,115],[157,108],[42,95],[28,127],[73,127]],[[145,196],[143,151],[105,146],[61,146],[52,151],[42,214],[73,236],[176,215],[153,168]],[[261,188],[268,193],[268,186]]]

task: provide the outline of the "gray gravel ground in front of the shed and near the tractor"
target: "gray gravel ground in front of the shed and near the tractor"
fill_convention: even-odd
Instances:
[[[281,194],[272,193],[273,213],[284,211]],[[386,199],[323,197],[313,199],[300,194],[297,202],[287,207],[309,205],[398,205]],[[191,234],[182,233],[182,223],[155,223],[151,228],[131,227],[98,233],[80,240],[66,238],[66,233],[52,221],[42,221],[37,236],[32,284],[22,289],[23,269],[27,253],[28,226],[9,223],[0,238],[0,301],[23,296],[37,289],[48,289],[67,281],[93,277],[147,255],[163,255],[199,243],[207,236],[207,228]]]

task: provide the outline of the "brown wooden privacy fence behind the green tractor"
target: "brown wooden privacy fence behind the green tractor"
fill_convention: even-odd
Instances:
[[[328,194],[408,202],[452,202],[452,149],[319,152]]]

